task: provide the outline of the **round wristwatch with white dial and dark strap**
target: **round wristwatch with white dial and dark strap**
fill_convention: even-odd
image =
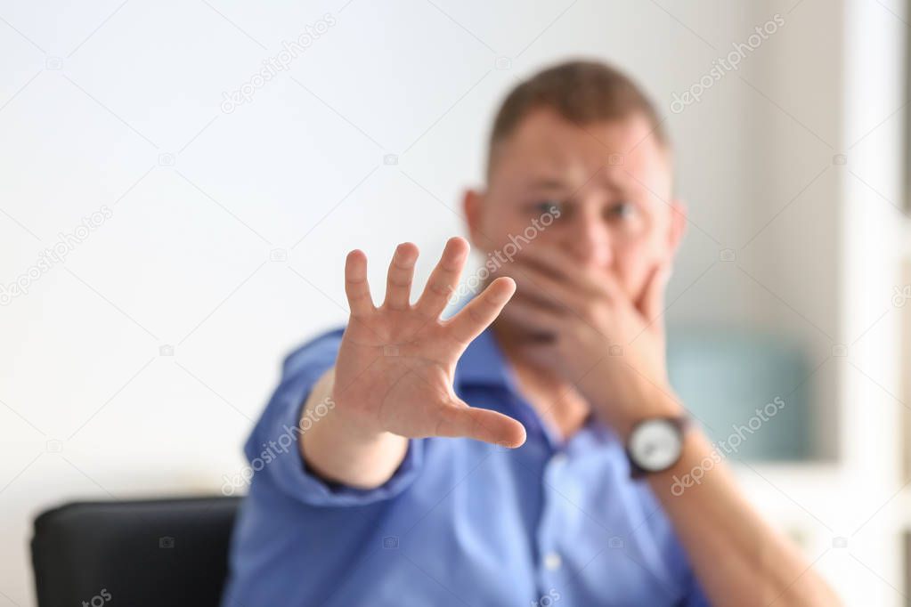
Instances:
[[[672,468],[681,459],[687,426],[685,416],[650,418],[633,426],[626,446],[630,476],[640,479]]]

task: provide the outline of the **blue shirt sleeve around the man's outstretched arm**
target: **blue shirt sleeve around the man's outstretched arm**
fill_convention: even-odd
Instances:
[[[322,481],[308,470],[298,441],[306,440],[307,430],[319,423],[321,410],[315,407],[302,419],[302,409],[313,385],[333,366],[342,334],[343,329],[325,333],[285,359],[281,382],[244,446],[257,482],[271,483],[312,506],[360,506],[391,499],[415,480],[424,459],[424,441],[410,440],[393,477],[371,490]]]

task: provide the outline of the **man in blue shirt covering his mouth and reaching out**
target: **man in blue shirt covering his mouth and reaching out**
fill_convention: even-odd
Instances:
[[[286,359],[246,445],[224,604],[836,603],[668,384],[685,209],[640,89],[598,63],[533,76],[486,181],[465,196],[486,288],[452,318],[466,240],[414,304],[415,245],[379,307],[348,255],[347,327]]]

